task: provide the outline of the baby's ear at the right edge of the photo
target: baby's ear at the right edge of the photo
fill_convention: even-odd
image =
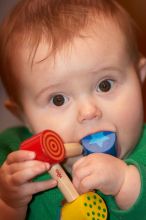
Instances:
[[[146,58],[142,57],[139,61],[139,78],[141,83],[144,83],[146,78]]]

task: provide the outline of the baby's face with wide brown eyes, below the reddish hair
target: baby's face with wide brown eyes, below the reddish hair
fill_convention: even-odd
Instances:
[[[114,131],[123,157],[137,143],[143,124],[139,79],[114,23],[104,22],[91,33],[74,39],[55,62],[44,59],[48,45],[41,43],[33,68],[23,50],[18,71],[24,119],[34,133],[52,129],[64,142]]]

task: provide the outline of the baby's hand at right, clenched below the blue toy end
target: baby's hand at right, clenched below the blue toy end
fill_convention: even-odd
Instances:
[[[125,180],[127,165],[108,154],[90,154],[73,166],[73,184],[79,193],[99,189],[106,195],[116,195]]]

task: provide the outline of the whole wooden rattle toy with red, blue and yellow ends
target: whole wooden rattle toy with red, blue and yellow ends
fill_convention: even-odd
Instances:
[[[108,213],[104,200],[95,192],[79,195],[59,163],[66,157],[81,154],[102,152],[116,156],[116,134],[97,132],[84,137],[81,144],[64,144],[57,133],[45,130],[24,141],[20,149],[34,151],[35,159],[51,164],[49,174],[57,180],[58,188],[67,201],[62,208],[61,220],[106,220]]]

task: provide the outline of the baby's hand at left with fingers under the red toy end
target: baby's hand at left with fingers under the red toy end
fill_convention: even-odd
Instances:
[[[50,169],[48,163],[34,158],[34,152],[15,151],[8,155],[0,168],[0,198],[8,206],[27,206],[33,194],[57,185],[55,180],[32,181],[34,177]]]

